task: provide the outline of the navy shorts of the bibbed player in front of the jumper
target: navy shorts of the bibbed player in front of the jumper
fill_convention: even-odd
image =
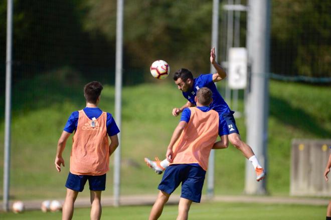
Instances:
[[[173,164],[165,169],[158,189],[171,194],[182,182],[182,198],[200,202],[206,171],[201,166]]]

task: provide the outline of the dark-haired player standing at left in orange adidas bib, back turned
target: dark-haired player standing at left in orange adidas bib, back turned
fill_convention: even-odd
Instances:
[[[61,137],[55,157],[55,167],[60,172],[64,166],[62,152],[70,134],[75,131],[70,155],[70,172],[67,178],[67,194],[62,209],[62,219],[71,219],[78,192],[86,181],[90,185],[91,219],[101,217],[101,192],[105,190],[109,156],[118,146],[119,129],[112,115],[98,108],[103,89],[100,82],[92,81],[84,86],[86,107],[70,115]],[[109,137],[110,144],[109,144]]]

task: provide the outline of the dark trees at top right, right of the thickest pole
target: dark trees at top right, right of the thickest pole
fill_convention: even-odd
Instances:
[[[331,1],[273,0],[271,63],[276,73],[331,77]]]

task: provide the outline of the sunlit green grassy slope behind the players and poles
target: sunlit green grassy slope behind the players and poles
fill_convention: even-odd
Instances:
[[[75,87],[36,79],[21,83],[13,92],[11,195],[13,198],[64,197],[71,140],[64,152],[66,167],[54,168],[57,139],[73,110],[84,107],[82,83]],[[49,80],[51,81],[51,80]],[[168,80],[170,81],[170,80]],[[288,194],[292,138],[331,136],[328,87],[271,81],[268,128],[269,178],[272,194]],[[154,193],[160,176],[151,172],[143,157],[163,158],[179,118],[171,115],[185,99],[175,84],[166,81],[124,87],[122,101],[122,193]],[[240,102],[242,106],[242,102]],[[100,107],[113,112],[114,88],[105,85]],[[245,139],[244,118],[237,119]],[[0,124],[0,175],[3,175],[4,122]],[[111,158],[112,159],[112,158]],[[245,159],[230,145],[216,152],[216,193],[238,194],[244,187]],[[112,168],[112,164],[111,164]],[[112,171],[105,195],[112,194]],[[3,178],[0,178],[2,185]],[[88,187],[88,186],[87,186]],[[83,192],[88,196],[88,190]]]

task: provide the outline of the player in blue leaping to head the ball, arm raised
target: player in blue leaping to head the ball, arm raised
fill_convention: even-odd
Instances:
[[[255,156],[252,148],[241,140],[239,135],[239,130],[236,126],[236,121],[234,119],[233,113],[225,102],[221,94],[216,88],[215,82],[218,82],[226,77],[226,72],[224,69],[216,62],[215,47],[211,49],[210,52],[210,61],[217,70],[217,73],[214,74],[201,74],[197,78],[193,77],[193,74],[190,70],[181,68],[174,74],[175,83],[178,86],[178,89],[182,90],[183,95],[188,99],[187,103],[180,108],[175,107],[172,114],[174,116],[179,115],[187,107],[192,107],[196,105],[195,97],[197,91],[201,87],[208,87],[213,92],[213,101],[209,105],[210,109],[213,109],[218,112],[220,123],[223,127],[223,132],[220,134],[221,141],[218,144],[222,144],[223,147],[228,146],[228,139],[230,142],[238,148],[244,156],[252,163],[255,172],[256,180],[260,181],[265,177],[265,171],[261,167],[257,157]],[[155,161],[152,161],[148,158],[145,158],[145,162],[158,174],[167,168],[168,160],[164,159],[162,161],[155,158]]]

